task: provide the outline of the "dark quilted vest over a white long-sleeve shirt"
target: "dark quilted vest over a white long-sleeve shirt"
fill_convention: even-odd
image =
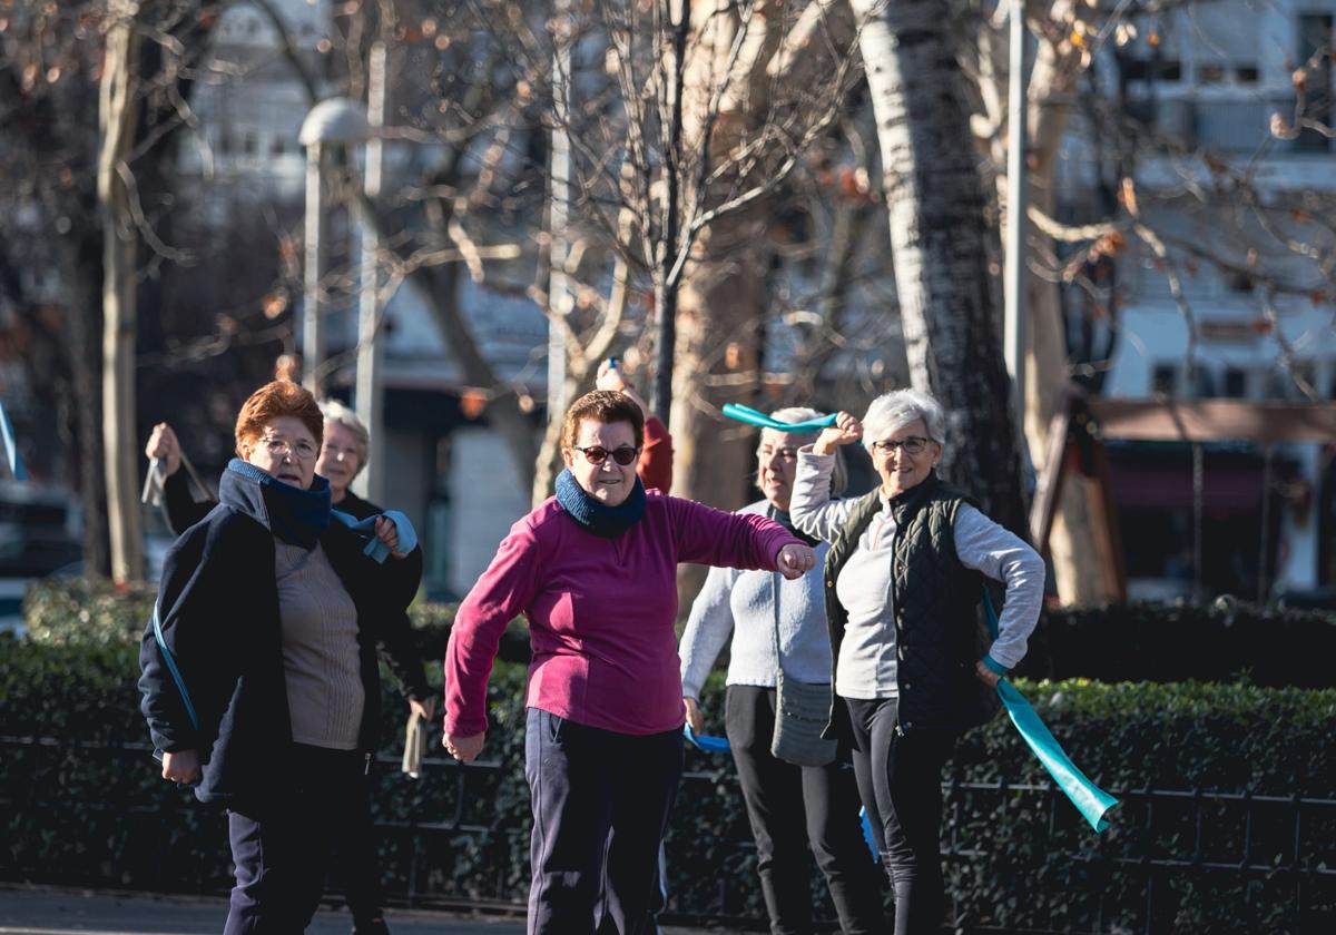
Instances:
[[[979,617],[983,576],[955,554],[955,516],[973,498],[929,476],[891,501],[895,518],[891,594],[902,731],[963,731],[997,711],[997,699],[974,675],[983,654]],[[848,612],[835,594],[835,581],[858,540],[880,509],[874,490],[854,509],[826,556],[826,617],[831,636],[831,684],[839,665]],[[846,735],[847,712],[835,704],[827,732]],[[847,736],[847,735],[846,735]]]

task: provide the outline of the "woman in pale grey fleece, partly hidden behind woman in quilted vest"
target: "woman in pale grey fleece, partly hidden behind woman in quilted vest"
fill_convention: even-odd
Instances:
[[[803,422],[810,409],[782,409],[774,418]],[[740,513],[759,513],[792,529],[788,501],[798,472],[798,449],[816,433],[762,430],[756,484],[766,498]],[[843,490],[843,472],[830,484]],[[802,536],[802,533],[796,533]],[[820,544],[818,561],[830,546]],[[800,681],[826,683],[831,673],[830,637],[819,574],[775,581],[771,572],[712,568],[691,608],[681,637],[683,703],[693,731],[704,728],[700,688],[729,636],[724,728],[737,764],[747,816],[756,837],[766,911],[774,935],[812,931],[807,848],[830,886],[844,935],[884,931],[880,882],[859,828],[859,797],[847,745],[827,767],[796,767],[770,752],[775,731],[775,672]],[[779,594],[779,648],[775,657],[775,593]]]

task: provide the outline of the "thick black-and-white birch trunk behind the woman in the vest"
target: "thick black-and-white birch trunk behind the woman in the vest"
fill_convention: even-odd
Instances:
[[[942,473],[1026,536],[965,76],[942,0],[851,0],[876,116],[910,378],[947,411]]]

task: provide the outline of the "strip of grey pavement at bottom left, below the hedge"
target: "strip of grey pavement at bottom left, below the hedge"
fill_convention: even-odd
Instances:
[[[0,935],[215,935],[227,900],[96,890],[53,890],[0,884]],[[524,920],[390,910],[394,935],[524,935]],[[346,910],[321,910],[307,935],[347,935]],[[711,930],[719,935],[723,930]],[[664,935],[707,935],[665,928]]]

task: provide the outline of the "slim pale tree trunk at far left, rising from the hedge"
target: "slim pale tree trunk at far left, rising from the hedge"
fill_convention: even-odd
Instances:
[[[99,95],[98,199],[103,212],[103,421],[107,472],[107,525],[111,577],[116,584],[144,577],[143,529],[136,481],[135,425],[135,256],[138,234],[123,172],[135,142],[139,45],[143,7],[111,5]]]

